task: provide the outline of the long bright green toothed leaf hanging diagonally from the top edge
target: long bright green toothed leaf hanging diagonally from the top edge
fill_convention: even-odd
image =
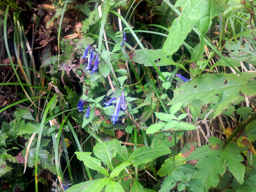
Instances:
[[[175,7],[181,6],[182,13],[176,18],[172,26],[170,27],[168,37],[163,45],[163,53],[167,56],[172,56],[182,45],[183,41],[187,37],[187,34],[195,26],[196,21],[189,18],[191,9],[197,5],[198,1],[177,1]],[[195,4],[195,5],[194,5]]]

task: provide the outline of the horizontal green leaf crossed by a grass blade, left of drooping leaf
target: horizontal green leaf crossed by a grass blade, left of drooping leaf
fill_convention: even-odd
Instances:
[[[172,59],[166,58],[167,55],[164,54],[161,49],[146,49],[146,52],[153,61],[159,59],[159,62],[155,62],[156,66],[182,66],[174,62]],[[133,60],[134,62],[138,62],[140,64],[143,64],[144,66],[152,66],[151,62],[147,59],[147,57],[145,56],[144,52],[141,49],[135,50],[135,56],[133,57]]]

